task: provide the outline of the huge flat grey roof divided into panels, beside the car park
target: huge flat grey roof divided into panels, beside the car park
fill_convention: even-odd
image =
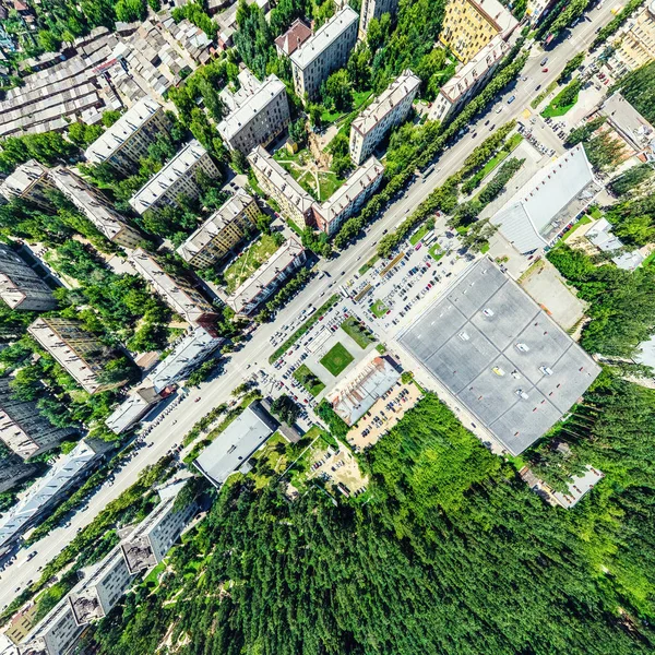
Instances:
[[[400,342],[513,454],[556,424],[600,372],[488,259],[474,264]]]

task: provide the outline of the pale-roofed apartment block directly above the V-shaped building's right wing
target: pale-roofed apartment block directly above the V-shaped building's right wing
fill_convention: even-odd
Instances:
[[[407,118],[420,87],[420,79],[410,70],[397,76],[350,126],[350,158],[357,166],[395,126]]]

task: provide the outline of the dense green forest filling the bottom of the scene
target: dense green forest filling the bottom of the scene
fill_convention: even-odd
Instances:
[[[653,427],[651,415],[651,437]],[[612,439],[603,448],[611,451]],[[550,508],[431,395],[365,466],[371,485],[361,503],[335,507],[318,490],[289,502],[274,481],[259,491],[243,478],[224,488],[174,549],[169,573],[129,594],[88,636],[93,647],[106,655],[155,653],[164,642],[171,652],[225,655],[652,652],[647,480],[624,475],[619,487],[609,472],[580,509]]]

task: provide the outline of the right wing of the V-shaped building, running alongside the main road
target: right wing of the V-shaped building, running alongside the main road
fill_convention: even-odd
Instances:
[[[314,204],[314,217],[320,230],[333,235],[376,192],[384,166],[370,157],[323,204]]]

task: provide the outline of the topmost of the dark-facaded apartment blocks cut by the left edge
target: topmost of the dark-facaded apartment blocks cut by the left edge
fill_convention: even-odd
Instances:
[[[48,311],[57,307],[50,287],[11,248],[1,243],[0,298],[12,309]]]

